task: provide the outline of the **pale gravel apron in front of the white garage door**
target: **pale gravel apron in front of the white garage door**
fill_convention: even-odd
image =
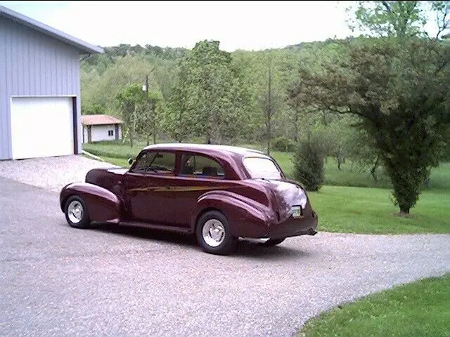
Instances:
[[[0,161],[0,176],[59,192],[75,181],[84,181],[87,171],[117,167],[81,155]]]

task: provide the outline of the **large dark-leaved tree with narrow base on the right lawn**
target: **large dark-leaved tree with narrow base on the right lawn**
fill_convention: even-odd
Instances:
[[[307,69],[308,104],[359,117],[380,154],[401,214],[418,201],[437,164],[450,123],[450,46],[439,41],[364,39],[347,44],[348,58]]]

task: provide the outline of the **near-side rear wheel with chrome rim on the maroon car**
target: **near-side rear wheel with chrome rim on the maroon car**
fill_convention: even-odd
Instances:
[[[219,211],[208,211],[200,216],[195,236],[204,251],[217,255],[229,255],[236,244],[226,216]]]

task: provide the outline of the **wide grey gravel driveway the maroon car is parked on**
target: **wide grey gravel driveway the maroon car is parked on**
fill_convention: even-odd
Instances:
[[[2,336],[293,336],[322,310],[450,271],[450,235],[321,233],[213,256],[191,237],[65,223],[0,178]]]

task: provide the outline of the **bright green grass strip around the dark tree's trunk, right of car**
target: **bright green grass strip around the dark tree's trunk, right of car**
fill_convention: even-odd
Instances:
[[[362,234],[450,233],[450,191],[426,190],[408,217],[390,200],[390,190],[323,186],[309,192],[319,230]]]

